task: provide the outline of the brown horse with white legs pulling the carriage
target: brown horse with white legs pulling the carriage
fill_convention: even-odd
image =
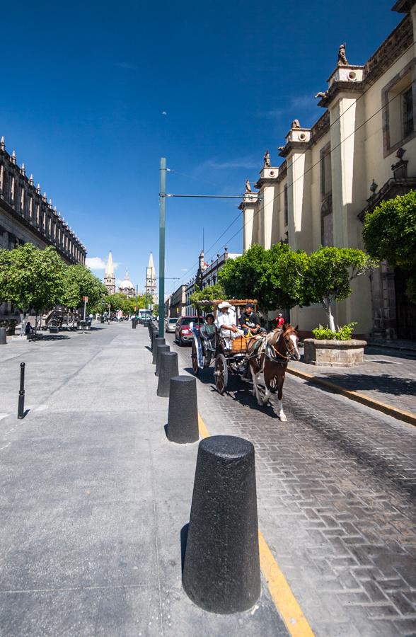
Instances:
[[[286,422],[283,413],[283,383],[289,360],[300,360],[298,326],[286,324],[283,328],[268,333],[265,336],[253,336],[247,343],[247,358],[253,379],[253,396],[256,396],[260,406],[265,405],[271,394],[277,391],[279,401],[279,418]],[[265,396],[261,398],[258,388],[260,373],[265,379]]]

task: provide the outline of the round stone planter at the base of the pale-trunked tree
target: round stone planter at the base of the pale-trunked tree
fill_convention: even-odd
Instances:
[[[304,362],[318,367],[355,367],[364,362],[365,340],[305,338]]]

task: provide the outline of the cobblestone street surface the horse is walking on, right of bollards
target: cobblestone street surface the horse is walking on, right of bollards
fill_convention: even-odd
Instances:
[[[255,444],[260,528],[316,633],[416,634],[415,428],[290,376],[288,423],[198,382],[209,432]]]

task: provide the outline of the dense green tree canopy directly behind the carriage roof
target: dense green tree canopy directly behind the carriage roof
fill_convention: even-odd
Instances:
[[[226,261],[219,283],[227,298],[255,298],[262,311],[303,304],[294,255],[286,243],[277,243],[270,250],[255,244],[241,257]]]

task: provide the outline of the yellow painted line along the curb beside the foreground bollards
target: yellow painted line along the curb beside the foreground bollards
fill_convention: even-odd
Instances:
[[[198,427],[202,438],[209,437],[207,425],[205,425],[199,413]],[[296,601],[296,597],[293,592],[291,592],[291,587],[277,565],[277,561],[273,557],[272,551],[270,551],[260,529],[258,532],[258,548],[262,574],[267,582],[267,587],[269,588],[273,602],[275,602],[275,607],[280,616],[282,616],[289,635],[291,635],[291,637],[313,637],[311,626],[309,626],[308,620]]]

